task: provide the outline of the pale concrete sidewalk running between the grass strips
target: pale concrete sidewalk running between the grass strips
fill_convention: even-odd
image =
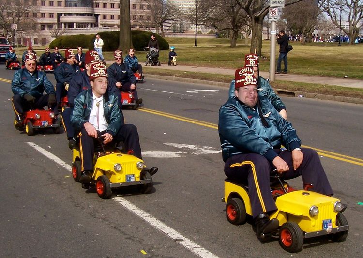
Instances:
[[[143,63],[141,63],[143,65]],[[177,71],[188,71],[188,72],[201,72],[209,74],[222,74],[234,76],[235,70],[225,69],[225,68],[211,68],[202,66],[168,66],[167,64],[162,64],[161,66],[148,66],[153,69],[168,69]],[[268,72],[260,72],[260,75],[265,79],[269,78]],[[349,79],[349,78],[333,78],[333,77],[321,77],[321,76],[307,76],[307,75],[295,75],[295,74],[275,74],[275,80],[283,81],[295,81],[295,82],[306,82],[306,83],[318,83],[326,85],[335,85],[342,87],[351,88],[363,88],[363,80],[359,79]]]

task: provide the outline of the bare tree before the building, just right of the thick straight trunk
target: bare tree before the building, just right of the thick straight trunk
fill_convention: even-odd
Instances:
[[[172,25],[180,22],[180,10],[177,5],[167,0],[140,0],[140,11],[136,20],[142,27],[152,30],[155,28],[156,33],[162,37],[165,36],[164,25],[169,23],[169,29]]]

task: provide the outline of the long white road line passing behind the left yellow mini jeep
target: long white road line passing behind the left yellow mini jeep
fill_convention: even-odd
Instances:
[[[66,162],[58,158],[56,155],[48,152],[47,150],[43,149],[39,145],[33,143],[33,142],[27,142],[28,145],[33,147],[35,150],[43,154],[45,157],[53,160],[57,164],[61,165],[62,167],[66,168],[67,170],[72,170],[72,167],[68,165]],[[122,207],[127,209],[128,211],[134,213],[139,218],[143,219],[145,222],[149,223],[152,227],[158,229],[159,231],[166,234],[169,238],[173,239],[175,242],[181,244],[186,249],[190,250],[194,254],[196,254],[199,257],[202,258],[218,258],[214,254],[212,254],[210,251],[204,249],[197,243],[194,243],[190,239],[184,237],[181,233],[177,232],[173,228],[168,227],[166,224],[158,220],[157,218],[151,216],[149,213],[137,208],[134,204],[127,201],[123,197],[115,197],[113,198],[114,201],[121,204]]]

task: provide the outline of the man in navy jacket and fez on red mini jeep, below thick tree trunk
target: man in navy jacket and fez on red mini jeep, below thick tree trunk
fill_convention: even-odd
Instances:
[[[134,94],[137,105],[142,103],[142,99],[138,98],[136,90],[136,78],[131,68],[123,62],[122,50],[113,52],[115,62],[108,67],[108,87],[109,91],[115,93],[121,106],[121,91],[130,91]]]

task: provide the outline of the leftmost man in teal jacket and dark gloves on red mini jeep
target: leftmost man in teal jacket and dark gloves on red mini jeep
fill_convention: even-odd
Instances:
[[[58,114],[56,97],[53,84],[48,81],[44,72],[36,70],[36,55],[27,53],[24,58],[25,68],[15,72],[11,82],[13,109],[17,123],[15,127],[23,126],[23,115],[31,108],[43,108],[48,106],[54,114]],[[43,92],[47,94],[43,94]]]

